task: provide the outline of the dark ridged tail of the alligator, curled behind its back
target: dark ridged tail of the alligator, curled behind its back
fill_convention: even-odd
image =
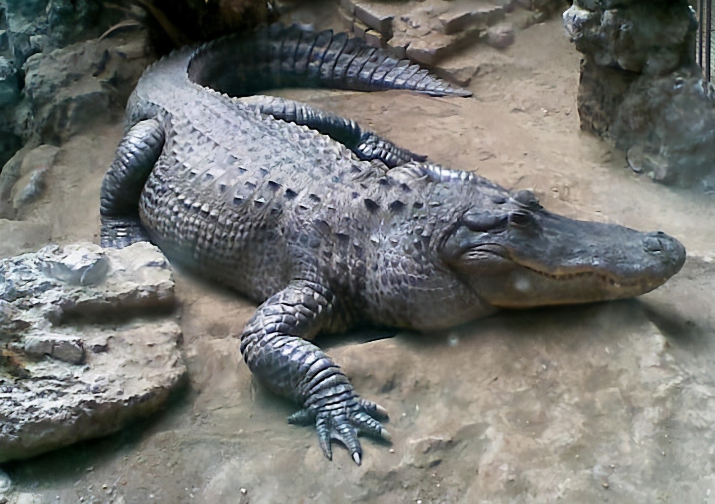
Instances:
[[[408,89],[438,97],[472,94],[362,39],[282,24],[201,46],[189,63],[189,79],[235,97],[280,87]]]

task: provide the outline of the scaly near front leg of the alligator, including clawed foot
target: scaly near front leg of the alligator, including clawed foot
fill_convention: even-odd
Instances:
[[[304,338],[314,337],[332,317],[335,300],[325,287],[305,280],[292,282],[270,297],[247,323],[241,353],[248,367],[275,392],[302,405],[290,423],[315,422],[318,441],[332,460],[331,440],[339,440],[360,465],[358,433],[390,440],[373,417],[385,408],[360,399],[345,373],[325,352]]]

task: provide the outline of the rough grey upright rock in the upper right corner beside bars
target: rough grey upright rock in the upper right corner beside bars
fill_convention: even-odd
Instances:
[[[664,184],[715,189],[715,88],[695,63],[686,0],[575,0],[563,14],[583,54],[581,129]]]

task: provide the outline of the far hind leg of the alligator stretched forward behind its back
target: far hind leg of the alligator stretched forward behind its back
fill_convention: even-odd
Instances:
[[[390,140],[363,129],[352,119],[324,112],[307,103],[265,95],[245,97],[239,101],[252,109],[259,110],[262,114],[315,129],[345,145],[360,159],[366,161],[380,159],[388,168],[398,167],[400,164],[410,161],[425,161],[427,159],[427,156],[398,147]]]

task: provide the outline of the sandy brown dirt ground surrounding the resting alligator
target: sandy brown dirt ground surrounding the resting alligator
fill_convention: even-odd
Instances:
[[[390,411],[393,445],[364,440],[360,467],[340,448],[328,462],[315,430],[285,422],[295,407],[252,382],[231,336],[254,306],[177,275],[187,390],[111,438],[4,465],[10,502],[715,503],[714,200],[638,177],[579,132],[580,56],[560,19],[503,53],[465,55],[482,64],[473,99],[283,94],[448,167],[533,188],[556,212],[662,229],[689,250],[679,275],[637,300],[324,341],[358,392]],[[54,241],[96,241],[99,182],[121,132],[107,125],[61,150],[63,182],[34,217]]]

